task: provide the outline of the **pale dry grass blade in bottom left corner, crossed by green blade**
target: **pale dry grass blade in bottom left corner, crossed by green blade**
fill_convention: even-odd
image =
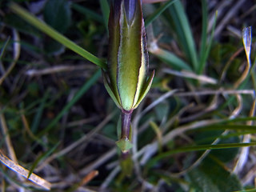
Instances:
[[[16,173],[21,174],[23,177],[27,178],[30,171],[26,170],[24,167],[19,166],[14,161],[10,160],[10,158],[7,158],[6,155],[2,154],[2,151],[0,150],[0,161],[8,166],[11,170],[14,170]],[[50,182],[47,182],[45,179],[40,178],[36,174],[31,174],[30,178],[28,178],[31,182],[34,182],[38,184],[38,186],[42,186],[42,188],[46,190],[50,190]]]

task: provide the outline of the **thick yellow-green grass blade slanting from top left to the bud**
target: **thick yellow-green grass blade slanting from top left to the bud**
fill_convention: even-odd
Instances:
[[[95,57],[87,50],[84,50],[81,46],[76,45],[74,42],[70,41],[70,39],[58,33],[58,31],[46,25],[46,23],[40,21],[38,18],[34,17],[34,15],[30,14],[14,2],[10,3],[10,10],[14,11],[15,14],[18,14],[18,16],[26,20],[26,22],[29,22],[30,25],[35,26],[38,28],[38,30],[42,30],[42,32],[48,34],[51,38],[54,38],[54,40],[62,43],[63,46],[66,46],[70,50],[73,50],[75,53],[80,54],[83,58],[86,58],[97,66],[106,69],[106,62],[103,62],[102,59]]]

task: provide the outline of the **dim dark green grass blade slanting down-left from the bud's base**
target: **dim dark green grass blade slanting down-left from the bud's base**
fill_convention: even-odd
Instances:
[[[78,101],[79,98],[82,97],[83,94],[86,93],[87,90],[90,89],[91,86],[94,85],[94,83],[98,80],[98,78],[101,76],[101,70],[97,70],[97,72],[81,87],[80,90],[78,90],[78,92],[74,95],[74,98],[72,98],[70,100],[70,102],[68,102],[66,104],[66,106],[64,106],[64,108],[60,111],[60,113],[57,115],[56,118],[54,118],[50,124],[48,126],[46,126],[46,128],[44,130],[42,130],[39,134],[38,137],[42,137],[43,134],[46,134],[49,130],[51,130],[54,126],[56,126],[56,124],[58,123],[58,121],[62,118],[62,116],[64,114],[66,114],[66,112],[68,110],[70,110],[70,108],[72,106],[74,106],[74,103]]]

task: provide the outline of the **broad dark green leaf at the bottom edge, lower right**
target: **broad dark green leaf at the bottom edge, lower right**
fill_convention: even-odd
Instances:
[[[230,174],[222,164],[206,158],[188,174],[191,190],[198,192],[230,192],[242,190],[239,179]]]

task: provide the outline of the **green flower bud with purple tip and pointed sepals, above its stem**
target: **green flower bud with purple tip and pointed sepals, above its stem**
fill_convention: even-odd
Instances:
[[[106,90],[117,106],[134,110],[150,90],[154,71],[146,78],[148,52],[141,0],[115,0],[109,18]]]

